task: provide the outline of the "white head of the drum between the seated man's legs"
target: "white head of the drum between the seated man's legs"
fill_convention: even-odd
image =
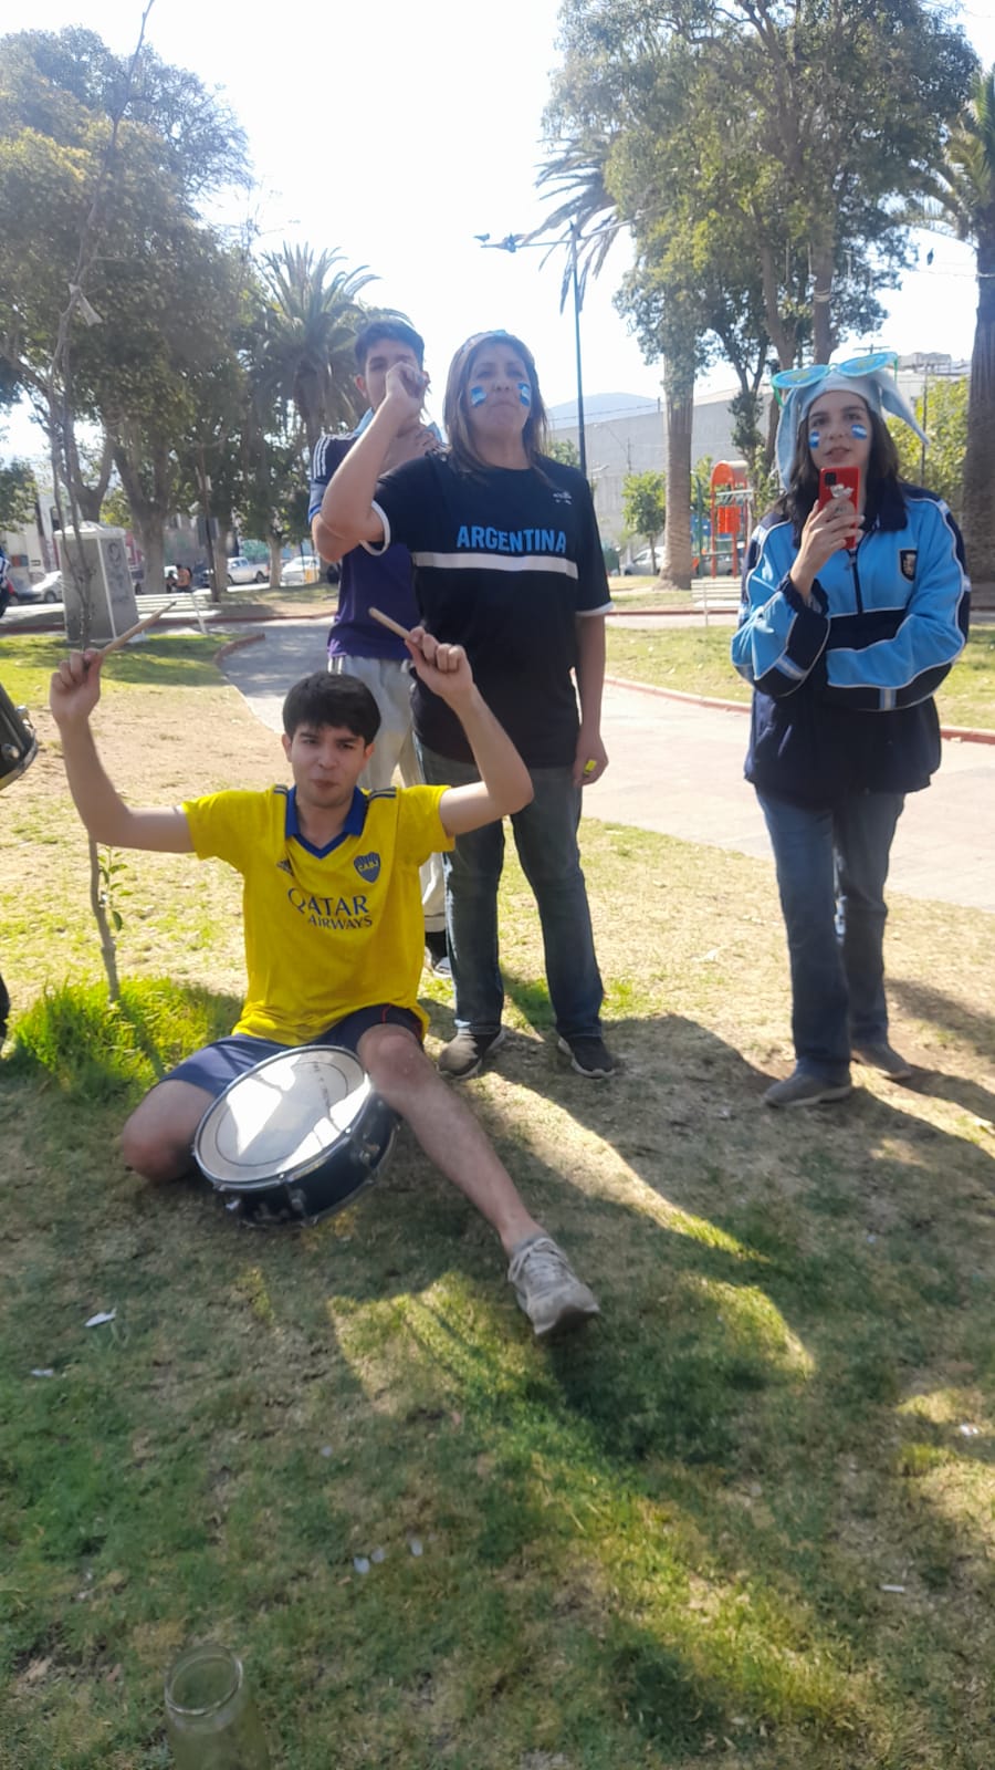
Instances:
[[[195,1156],[214,1186],[273,1186],[320,1163],[356,1122],[370,1078],[352,1051],[306,1044],[232,1081],[200,1120]]]

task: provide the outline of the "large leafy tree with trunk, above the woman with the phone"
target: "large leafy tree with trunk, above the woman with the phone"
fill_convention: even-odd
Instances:
[[[682,582],[696,373],[733,363],[737,446],[760,478],[768,354],[825,359],[875,326],[906,257],[896,198],[937,159],[974,58],[924,0],[581,0],[561,48],[542,182],[554,219],[570,200],[590,218],[591,253],[605,221],[632,230],[618,299],[664,359],[664,572]]]

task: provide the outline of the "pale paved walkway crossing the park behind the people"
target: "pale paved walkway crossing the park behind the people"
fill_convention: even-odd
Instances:
[[[253,713],[280,731],[297,676],[324,669],[324,625],[280,621],[223,664]],[[752,789],[742,779],[744,713],[607,689],[611,768],[586,789],[591,816],[770,860]],[[926,793],[912,793],[892,848],[891,889],[995,913],[995,745],[945,743]]]

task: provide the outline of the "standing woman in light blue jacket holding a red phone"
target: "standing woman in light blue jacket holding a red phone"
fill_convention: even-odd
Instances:
[[[784,494],[751,538],[733,639],[791,961],[795,1069],[768,1106],[845,1099],[852,1058],[912,1073],[889,1041],[883,889],[905,795],[940,765],[933,694],[970,584],[942,497],[898,478],[883,412],[922,432],[894,363],[774,375]]]

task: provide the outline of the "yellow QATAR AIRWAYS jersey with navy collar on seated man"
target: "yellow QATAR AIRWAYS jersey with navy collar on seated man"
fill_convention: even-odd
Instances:
[[[342,834],[313,848],[294,788],[209,793],[182,809],[200,860],[243,874],[248,995],[235,1032],[306,1044],[356,1009],[411,1009],[425,952],[418,867],[450,850],[444,786],[356,788]]]

